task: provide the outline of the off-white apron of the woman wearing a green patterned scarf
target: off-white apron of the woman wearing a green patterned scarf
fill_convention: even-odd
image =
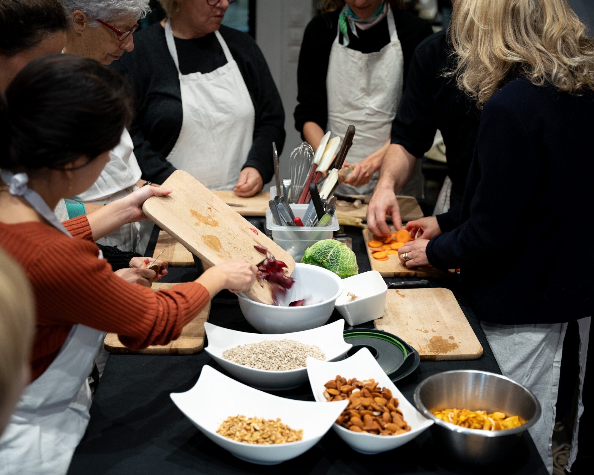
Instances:
[[[375,53],[362,53],[339,43],[340,29],[330,50],[326,89],[328,130],[333,137],[345,136],[347,127],[356,128],[347,163],[362,162],[383,147],[391,135],[392,121],[402,97],[404,58],[393,12],[388,11],[390,43]],[[366,185],[340,185],[343,194],[368,195],[380,173]]]

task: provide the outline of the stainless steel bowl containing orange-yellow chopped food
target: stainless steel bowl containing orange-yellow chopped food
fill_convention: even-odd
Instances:
[[[521,384],[486,371],[460,370],[437,373],[424,379],[415,389],[415,404],[431,426],[436,446],[458,460],[485,465],[501,460],[526,429],[541,417],[541,405]],[[447,408],[501,411],[528,422],[507,430],[467,429],[444,422],[433,415]]]

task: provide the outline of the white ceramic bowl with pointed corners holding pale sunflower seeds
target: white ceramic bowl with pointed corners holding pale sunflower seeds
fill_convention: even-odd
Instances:
[[[308,345],[316,345],[324,351],[328,361],[333,361],[345,356],[346,352],[352,347],[352,344],[346,343],[345,338],[343,338],[344,327],[345,321],[340,319],[312,330],[271,336],[261,333],[227,330],[226,328],[205,323],[204,329],[208,336],[208,346],[204,350],[227,372],[254,388],[267,390],[291,389],[307,381],[307,368],[305,366],[287,371],[249,368],[249,366],[226,360],[223,358],[223,351],[235,348],[238,345],[259,343],[265,340],[284,340],[286,338],[287,340],[296,340]]]

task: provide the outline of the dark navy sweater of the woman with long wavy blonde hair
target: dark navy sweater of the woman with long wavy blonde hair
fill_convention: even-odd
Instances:
[[[460,268],[479,319],[567,322],[594,313],[594,93],[517,78],[481,116],[460,214],[426,254]]]

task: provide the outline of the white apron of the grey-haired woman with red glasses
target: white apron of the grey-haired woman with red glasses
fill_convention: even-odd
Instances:
[[[109,157],[110,160],[97,181],[87,191],[78,195],[78,201],[102,206],[124,198],[138,189],[136,182],[140,180],[142,173],[134,155],[132,137],[127,129],[122,132],[119,145],[109,151]],[[152,226],[146,229],[146,226],[141,228],[141,223],[128,223],[97,242],[104,246],[118,246],[121,251],[144,254],[151,230]]]

